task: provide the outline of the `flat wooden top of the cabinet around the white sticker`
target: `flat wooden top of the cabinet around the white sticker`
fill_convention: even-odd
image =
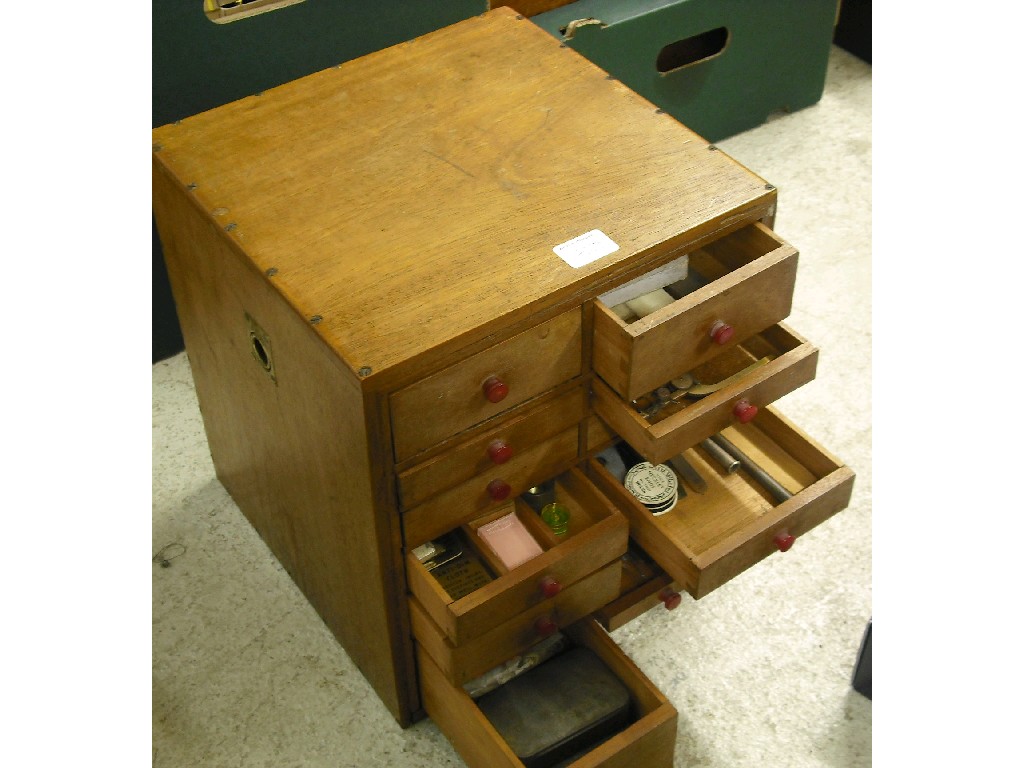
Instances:
[[[374,373],[568,306],[773,199],[507,8],[163,126],[154,144],[158,170]],[[584,264],[554,250],[593,230],[617,249],[570,249]]]

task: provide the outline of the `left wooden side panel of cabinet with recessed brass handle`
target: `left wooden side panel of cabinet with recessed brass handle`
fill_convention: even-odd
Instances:
[[[274,290],[289,275],[258,272],[159,164],[154,207],[217,476],[407,724],[419,703],[372,407]]]

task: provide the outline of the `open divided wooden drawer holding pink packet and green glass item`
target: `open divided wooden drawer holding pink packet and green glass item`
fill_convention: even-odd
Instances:
[[[505,509],[463,527],[464,541],[484,560],[495,578],[458,599],[453,599],[415,551],[407,554],[410,590],[453,645],[481,637],[524,611],[543,611],[571,585],[609,563],[617,564],[617,558],[626,552],[628,523],[583,472],[573,468],[558,477],[554,498],[569,510],[568,529],[562,536],[555,536],[522,499],[517,498],[511,505],[544,550],[512,570],[504,567],[476,532],[481,524],[504,514]],[[607,601],[616,594],[613,586],[602,590],[598,599]]]

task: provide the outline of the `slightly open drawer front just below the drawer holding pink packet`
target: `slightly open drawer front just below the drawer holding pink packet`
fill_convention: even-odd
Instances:
[[[550,623],[559,628],[567,627],[613,600],[618,594],[621,579],[618,561],[605,565],[562,590],[548,603],[514,615],[460,645],[450,642],[416,598],[410,598],[413,636],[447,679],[462,685],[528,650],[547,637]]]

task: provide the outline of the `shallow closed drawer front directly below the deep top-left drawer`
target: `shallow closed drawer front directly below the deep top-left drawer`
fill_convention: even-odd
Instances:
[[[402,508],[410,509],[474,476],[499,470],[523,451],[581,421],[586,413],[587,392],[580,387],[417,464],[398,475]]]

